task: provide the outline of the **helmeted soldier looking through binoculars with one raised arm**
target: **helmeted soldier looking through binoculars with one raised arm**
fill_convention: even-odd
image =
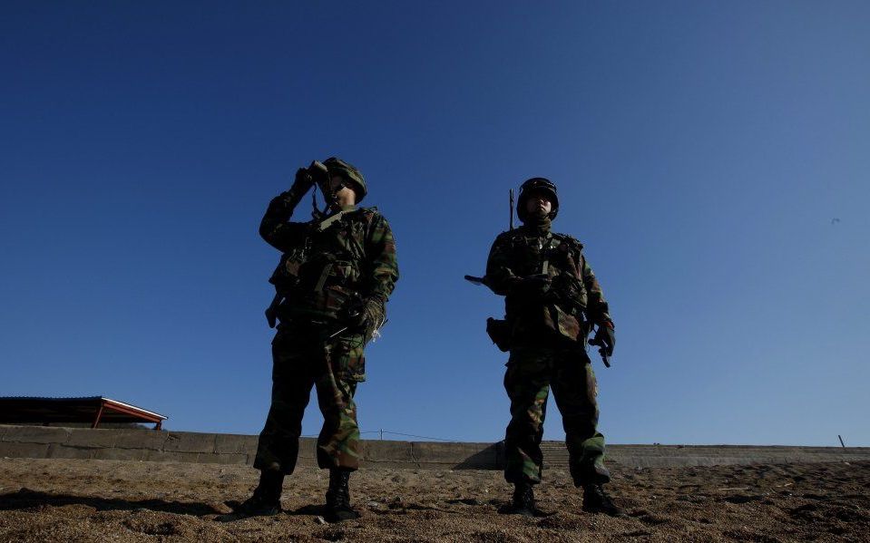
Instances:
[[[299,201],[313,187],[327,209],[305,222],[291,221]],[[253,496],[227,519],[274,515],[280,508],[285,475],[296,467],[302,414],[312,386],[323,413],[318,466],[329,470],[329,521],[355,519],[348,480],[360,458],[357,383],[366,380],[367,342],[386,320],[385,305],[398,280],[396,244],[376,208],[357,208],[366,181],[337,158],[299,169],[293,186],[272,199],[259,234],[281,251],[269,282],[276,296],[267,310],[277,324],[272,340],[272,394],[259,434],[254,468],[260,470]]]

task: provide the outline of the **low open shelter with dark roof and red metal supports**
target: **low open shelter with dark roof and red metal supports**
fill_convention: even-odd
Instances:
[[[103,396],[89,398],[0,397],[0,424],[153,423],[160,430],[168,417]]]

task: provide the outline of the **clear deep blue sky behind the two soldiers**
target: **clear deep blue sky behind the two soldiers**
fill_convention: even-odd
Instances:
[[[259,432],[259,219],[337,155],[402,272],[363,431],[502,439],[502,300],[462,277],[545,176],[618,327],[611,442],[868,446],[868,25],[845,1],[4,2],[0,395]]]

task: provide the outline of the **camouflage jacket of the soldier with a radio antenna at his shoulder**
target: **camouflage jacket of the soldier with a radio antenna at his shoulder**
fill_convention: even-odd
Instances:
[[[611,320],[601,285],[571,236],[522,226],[495,238],[486,261],[486,282],[505,296],[505,312],[514,335],[551,329],[585,342],[591,324]],[[523,290],[523,277],[546,275],[549,288]]]

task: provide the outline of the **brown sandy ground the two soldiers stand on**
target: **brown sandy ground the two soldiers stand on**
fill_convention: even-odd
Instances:
[[[257,472],[242,466],[0,460],[0,541],[870,541],[870,461],[710,468],[615,467],[629,516],[581,511],[563,470],[536,488],[536,519],[498,512],[497,471],[363,470],[362,518],[324,524],[327,472],[300,468],[277,517],[223,523]]]

